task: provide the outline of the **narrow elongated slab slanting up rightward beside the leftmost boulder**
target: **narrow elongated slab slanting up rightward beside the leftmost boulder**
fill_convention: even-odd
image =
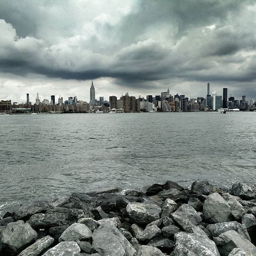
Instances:
[[[18,256],[38,256],[52,245],[54,238],[45,236],[28,246]]]

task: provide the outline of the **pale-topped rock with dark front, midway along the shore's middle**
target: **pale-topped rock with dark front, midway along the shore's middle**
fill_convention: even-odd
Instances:
[[[155,204],[131,202],[126,206],[129,217],[138,224],[148,224],[160,218],[162,209]]]

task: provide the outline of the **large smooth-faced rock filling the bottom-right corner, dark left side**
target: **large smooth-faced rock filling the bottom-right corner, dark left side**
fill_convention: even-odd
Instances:
[[[213,240],[222,256],[228,256],[234,248],[240,248],[246,253],[256,255],[256,247],[234,230],[226,231],[220,236],[214,237]]]

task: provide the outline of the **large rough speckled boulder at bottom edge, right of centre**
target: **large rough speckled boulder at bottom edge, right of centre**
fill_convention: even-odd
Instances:
[[[189,232],[174,234],[173,256],[220,256],[216,244],[199,227],[192,226]]]

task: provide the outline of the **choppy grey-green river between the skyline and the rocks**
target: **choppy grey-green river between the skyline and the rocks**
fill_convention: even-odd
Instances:
[[[0,215],[28,200],[99,187],[256,183],[256,112],[0,118]]]

